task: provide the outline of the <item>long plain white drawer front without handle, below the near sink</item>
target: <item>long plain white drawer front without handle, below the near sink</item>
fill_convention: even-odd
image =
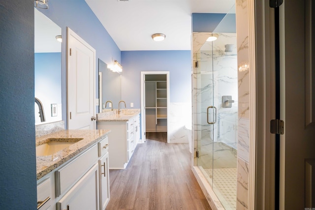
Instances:
[[[97,162],[97,145],[76,157],[70,163],[57,170],[56,177],[56,196],[63,194],[74,182],[79,180]]]

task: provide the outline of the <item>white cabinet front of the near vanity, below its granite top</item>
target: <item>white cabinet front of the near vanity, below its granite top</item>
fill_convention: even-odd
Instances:
[[[108,148],[106,136],[38,180],[38,202],[50,197],[39,209],[105,210],[109,202]]]

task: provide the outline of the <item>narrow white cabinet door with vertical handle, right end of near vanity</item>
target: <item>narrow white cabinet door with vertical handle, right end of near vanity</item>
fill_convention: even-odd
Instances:
[[[105,210],[109,202],[109,164],[108,152],[98,161],[100,210]]]

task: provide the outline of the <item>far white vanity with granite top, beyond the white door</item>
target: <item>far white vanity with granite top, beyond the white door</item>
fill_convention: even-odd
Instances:
[[[109,129],[109,168],[125,169],[140,139],[140,110],[122,110],[117,114],[100,113],[97,128]]]

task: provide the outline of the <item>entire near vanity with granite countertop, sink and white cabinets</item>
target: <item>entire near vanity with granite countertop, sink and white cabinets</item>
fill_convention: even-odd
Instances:
[[[109,133],[62,130],[36,138],[37,209],[105,210]]]

